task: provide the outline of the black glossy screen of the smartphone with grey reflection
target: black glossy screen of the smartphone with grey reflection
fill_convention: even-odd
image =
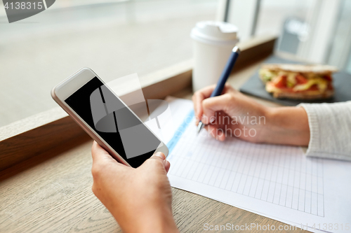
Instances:
[[[97,77],[65,102],[131,167],[143,164],[161,143]]]

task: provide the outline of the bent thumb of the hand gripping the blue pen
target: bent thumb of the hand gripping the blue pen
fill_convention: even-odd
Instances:
[[[232,94],[226,93],[218,97],[212,97],[202,101],[204,115],[202,116],[201,121],[208,125],[216,120],[217,111],[224,111],[227,113],[229,110],[228,106],[230,105],[232,98]]]

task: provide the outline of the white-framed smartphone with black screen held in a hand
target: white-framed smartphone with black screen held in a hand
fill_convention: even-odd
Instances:
[[[167,146],[98,77],[84,68],[53,87],[53,99],[118,162],[139,167]]]

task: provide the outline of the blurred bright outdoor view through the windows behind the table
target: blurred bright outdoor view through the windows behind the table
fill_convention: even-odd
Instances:
[[[231,22],[241,41],[351,73],[350,0],[59,0],[8,23],[0,2],[0,127],[57,106],[51,88],[88,66],[105,81],[192,58],[201,20]]]

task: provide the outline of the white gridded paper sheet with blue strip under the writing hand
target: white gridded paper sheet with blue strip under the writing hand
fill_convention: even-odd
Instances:
[[[166,140],[173,187],[298,227],[336,223],[324,230],[351,232],[350,162],[305,157],[293,146],[220,142],[206,130],[197,136],[192,102],[168,101],[177,129]]]

